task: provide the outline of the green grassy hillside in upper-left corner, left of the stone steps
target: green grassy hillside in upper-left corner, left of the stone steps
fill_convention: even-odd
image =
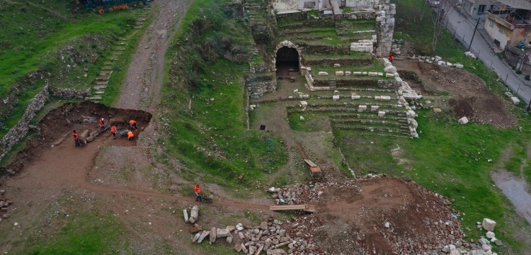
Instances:
[[[25,74],[37,69],[49,73],[47,80],[56,87],[86,89],[91,86],[91,81],[106,61],[105,56],[110,56],[115,39],[132,30],[135,13],[142,11],[117,11],[105,15],[82,11],[71,14],[70,4],[58,0],[48,1],[42,6],[55,13],[29,4],[0,4],[1,98]],[[84,36],[93,40],[87,41]],[[74,51],[64,50],[65,46],[72,46]],[[88,61],[81,64],[70,62],[71,55],[78,52],[76,58]],[[96,55],[99,59],[93,64]],[[67,64],[71,67],[68,68]],[[87,77],[84,74],[88,74]],[[18,123],[30,100],[44,85],[42,80],[26,84],[25,89],[18,93],[15,109],[2,119],[4,125],[0,125],[0,137]],[[112,99],[107,101],[112,103]]]

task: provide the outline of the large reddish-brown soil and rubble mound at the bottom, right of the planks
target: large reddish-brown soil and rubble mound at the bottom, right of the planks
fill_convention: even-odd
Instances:
[[[323,183],[312,184],[319,187]],[[414,182],[386,176],[324,183],[316,213],[297,217],[291,237],[307,238],[329,254],[422,254],[462,242],[450,201]],[[297,196],[304,198],[305,192]],[[312,194],[312,193],[310,193]]]

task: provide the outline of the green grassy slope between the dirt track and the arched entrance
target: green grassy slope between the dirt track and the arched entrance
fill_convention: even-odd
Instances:
[[[168,53],[173,64],[162,103],[175,110],[164,116],[169,120],[169,136],[161,160],[178,158],[185,165],[184,176],[190,180],[231,187],[249,183],[259,186],[270,172],[285,164],[287,156],[278,137],[246,128],[243,78],[249,64],[225,60],[219,52],[215,59],[207,60],[196,50],[197,45],[208,41],[229,41],[231,48],[250,49],[249,30],[240,19],[226,15],[230,12],[224,6],[227,2],[195,1],[185,17],[188,26],[176,35]],[[245,176],[241,181],[237,179],[240,174]]]

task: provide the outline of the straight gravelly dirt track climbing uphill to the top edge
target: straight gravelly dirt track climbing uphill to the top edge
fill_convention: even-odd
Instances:
[[[164,80],[164,55],[175,35],[190,0],[154,1],[154,19],[132,57],[127,76],[122,84],[122,94],[115,106],[118,108],[153,111],[159,103],[159,93]]]

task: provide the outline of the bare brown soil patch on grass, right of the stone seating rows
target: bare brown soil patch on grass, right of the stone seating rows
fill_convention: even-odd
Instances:
[[[489,91],[485,81],[475,74],[417,60],[396,61],[394,65],[399,70],[412,71],[418,75],[421,84],[415,79],[406,78],[414,89],[421,86],[420,91],[428,95],[440,91],[452,94],[450,106],[457,118],[467,117],[473,122],[498,128],[509,128],[516,124],[506,102]]]

